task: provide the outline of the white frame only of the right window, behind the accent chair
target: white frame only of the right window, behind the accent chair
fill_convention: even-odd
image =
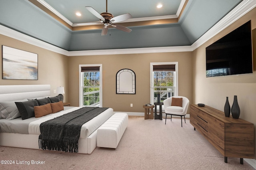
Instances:
[[[175,77],[174,77],[174,84],[175,84],[175,93],[173,96],[178,96],[178,62],[157,62],[157,63],[150,63],[150,103],[154,104],[154,75],[153,75],[153,65],[173,65],[175,64]]]

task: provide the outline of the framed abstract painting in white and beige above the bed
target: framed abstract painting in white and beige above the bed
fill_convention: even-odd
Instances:
[[[2,45],[2,79],[38,80],[38,54]]]

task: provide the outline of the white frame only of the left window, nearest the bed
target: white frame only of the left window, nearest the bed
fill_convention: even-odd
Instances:
[[[79,106],[83,106],[83,95],[82,95],[82,87],[83,87],[83,73],[81,72],[81,67],[100,67],[100,107],[102,107],[102,64],[80,64],[79,65]]]

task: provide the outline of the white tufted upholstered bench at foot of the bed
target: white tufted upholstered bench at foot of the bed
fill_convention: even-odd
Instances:
[[[128,125],[126,113],[112,115],[97,131],[97,146],[102,148],[116,148]]]

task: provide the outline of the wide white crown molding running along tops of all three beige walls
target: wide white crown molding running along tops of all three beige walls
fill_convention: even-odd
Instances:
[[[49,43],[43,42],[36,38],[27,36],[10,28],[0,25],[0,34],[26,42],[38,47],[54,51],[66,56],[81,56],[81,55],[113,55],[113,54],[132,54],[132,53],[166,53],[166,52],[184,52],[194,51],[210,38],[224,30],[230,24],[244,16],[247,12],[256,7],[256,0],[243,0],[238,6],[230,11],[224,18],[208,30],[192,45],[173,46],[173,47],[148,47],[148,48],[130,48],[130,49],[102,49],[102,50],[86,50],[86,51],[67,51],[60,47],[56,47]]]

